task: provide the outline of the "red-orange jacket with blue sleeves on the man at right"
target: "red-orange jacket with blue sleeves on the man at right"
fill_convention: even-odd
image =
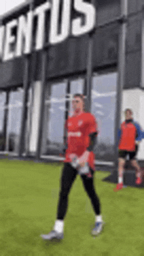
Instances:
[[[133,119],[122,122],[118,131],[118,149],[125,151],[135,151],[135,141],[141,141],[141,127]]]

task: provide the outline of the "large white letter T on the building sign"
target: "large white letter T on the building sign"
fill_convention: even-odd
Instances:
[[[43,48],[44,36],[45,36],[45,11],[50,9],[51,4],[46,2],[43,5],[35,9],[35,14],[38,15],[38,24],[37,24],[37,37],[36,37],[36,46],[35,49],[39,50]]]

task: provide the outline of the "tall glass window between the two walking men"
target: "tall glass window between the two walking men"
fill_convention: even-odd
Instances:
[[[96,75],[92,79],[92,113],[98,121],[96,159],[113,161],[117,73]]]

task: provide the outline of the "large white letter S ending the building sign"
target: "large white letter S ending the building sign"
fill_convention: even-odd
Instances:
[[[74,8],[76,11],[85,15],[86,21],[83,26],[81,26],[82,18],[75,18],[72,22],[73,36],[81,36],[94,28],[96,22],[96,9],[92,4],[83,2],[82,0],[75,0]]]

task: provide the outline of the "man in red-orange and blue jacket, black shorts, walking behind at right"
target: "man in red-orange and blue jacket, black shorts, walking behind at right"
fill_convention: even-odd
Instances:
[[[137,163],[136,155],[139,143],[142,139],[141,127],[133,119],[132,109],[124,111],[125,121],[122,122],[120,130],[118,131],[118,184],[117,190],[123,188],[123,172],[126,163],[126,156],[129,155],[130,162],[137,170],[135,184],[139,185],[142,182],[141,167]]]

